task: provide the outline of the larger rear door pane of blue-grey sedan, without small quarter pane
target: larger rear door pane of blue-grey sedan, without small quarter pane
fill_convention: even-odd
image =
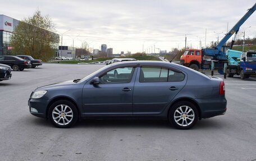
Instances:
[[[164,82],[168,78],[168,69],[163,67],[141,67],[140,82]]]

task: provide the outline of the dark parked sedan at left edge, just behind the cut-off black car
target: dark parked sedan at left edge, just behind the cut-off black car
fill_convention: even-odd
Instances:
[[[13,71],[23,71],[24,68],[31,68],[30,61],[16,56],[0,56],[0,63],[11,66]]]

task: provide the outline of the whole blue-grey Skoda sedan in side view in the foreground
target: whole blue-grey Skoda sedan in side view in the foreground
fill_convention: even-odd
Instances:
[[[119,68],[127,69],[113,76]],[[63,128],[79,118],[117,116],[167,119],[188,129],[198,119],[224,114],[226,104],[222,79],[160,61],[114,63],[83,79],[37,88],[29,98],[31,114]]]

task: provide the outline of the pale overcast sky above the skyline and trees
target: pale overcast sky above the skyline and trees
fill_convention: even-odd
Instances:
[[[1,0],[2,1],[2,0]],[[241,19],[255,0],[44,0],[2,1],[0,15],[22,20],[39,9],[49,15],[58,34],[63,34],[63,45],[99,49],[100,44],[113,48],[113,53],[131,51],[150,52],[154,47],[170,51],[185,47],[199,48],[217,41]],[[248,28],[251,26],[250,28]],[[256,37],[256,12],[240,27],[246,37]],[[238,36],[241,38],[243,34]]]

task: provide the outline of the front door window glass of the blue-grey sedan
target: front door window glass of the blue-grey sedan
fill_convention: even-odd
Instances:
[[[120,84],[131,82],[135,67],[115,68],[99,77],[101,84]]]

